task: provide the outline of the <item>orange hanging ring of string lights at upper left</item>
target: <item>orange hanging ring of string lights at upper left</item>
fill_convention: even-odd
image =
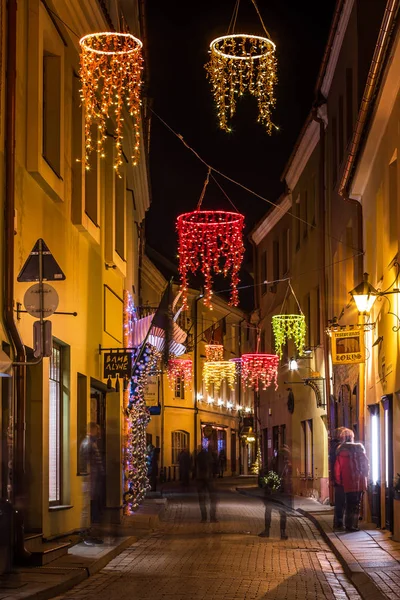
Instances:
[[[108,119],[115,118],[115,160],[117,173],[122,164],[124,107],[133,120],[132,163],[137,164],[140,145],[140,88],[143,69],[142,42],[130,33],[101,32],[85,35],[81,46],[81,98],[85,114],[84,165],[96,149],[104,157]],[[97,141],[92,125],[98,125]],[[94,145],[96,148],[94,148]]]

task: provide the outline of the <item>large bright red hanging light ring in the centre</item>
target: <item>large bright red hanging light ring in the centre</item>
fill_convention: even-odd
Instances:
[[[212,309],[212,273],[231,272],[230,304],[237,306],[239,270],[243,260],[244,216],[219,210],[195,210],[177,220],[182,308],[186,310],[188,274],[201,271],[205,278],[204,304]]]

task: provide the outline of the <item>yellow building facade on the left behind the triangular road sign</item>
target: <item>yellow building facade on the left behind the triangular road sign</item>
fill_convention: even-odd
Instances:
[[[12,431],[10,423],[19,432],[26,428],[26,447],[24,465],[17,464],[18,449],[14,453],[13,469],[19,484],[14,490],[7,483],[10,474],[3,445],[2,482],[8,489],[2,491],[21,508],[26,531],[40,532],[46,539],[90,524],[87,513],[82,517],[85,477],[79,465],[79,446],[89,422],[97,423],[101,430],[104,510],[118,520],[122,504],[122,390],[107,389],[101,349],[124,345],[124,290],[134,299],[138,292],[140,224],[149,207],[147,143],[142,136],[141,159],[133,167],[125,158],[131,156],[133,145],[131,121],[125,115],[121,177],[113,167],[111,136],[106,141],[105,158],[94,152],[90,170],[85,171],[78,77],[79,36],[109,30],[117,18],[113,13],[117,3],[113,4],[108,12],[106,4],[101,8],[98,2],[83,7],[79,2],[61,0],[45,5],[33,0],[19,4],[17,11],[14,264],[10,268],[13,308],[18,309],[14,312],[16,328],[31,364],[24,369],[25,398],[13,394],[15,386],[11,383],[9,400],[3,386],[3,434]],[[133,5],[125,18],[132,33],[140,38],[138,3]],[[3,97],[2,163],[9,160],[4,143],[4,128],[12,118],[9,110]],[[112,127],[111,122],[109,125]],[[3,205],[8,201],[5,193],[2,185]],[[51,354],[38,361],[33,353],[33,324],[37,319],[25,312],[25,294],[32,281],[18,282],[17,276],[40,239],[65,280],[49,282],[58,294],[59,305],[48,319],[52,325]],[[1,275],[2,280],[7,276]],[[1,338],[3,349],[15,360],[4,322]],[[25,411],[12,408],[21,403]],[[14,448],[23,443],[21,436],[13,439]]]

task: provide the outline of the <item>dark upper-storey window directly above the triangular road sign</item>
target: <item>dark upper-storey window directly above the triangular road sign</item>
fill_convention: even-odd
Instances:
[[[43,53],[43,158],[61,173],[61,57]]]

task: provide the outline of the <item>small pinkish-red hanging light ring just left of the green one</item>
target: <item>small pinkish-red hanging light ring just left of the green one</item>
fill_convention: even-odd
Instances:
[[[266,390],[272,383],[278,387],[279,356],[276,354],[243,354],[242,385],[256,392],[261,385]]]

